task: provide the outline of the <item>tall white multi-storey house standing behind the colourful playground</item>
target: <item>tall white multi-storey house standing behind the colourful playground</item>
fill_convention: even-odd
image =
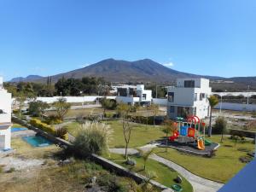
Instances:
[[[212,94],[208,79],[177,79],[176,86],[167,87],[167,115],[169,118],[209,116],[207,97]]]

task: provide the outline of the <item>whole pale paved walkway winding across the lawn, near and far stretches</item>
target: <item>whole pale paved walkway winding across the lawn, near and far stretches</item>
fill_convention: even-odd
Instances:
[[[143,150],[147,150],[148,148],[153,147],[154,145],[146,145],[141,148]],[[125,154],[125,148],[109,148],[109,151],[115,154]],[[137,149],[128,148],[128,154],[137,154],[137,152]],[[213,182],[206,178],[196,176],[192,172],[189,172],[188,170],[184,169],[182,166],[179,166],[176,163],[172,162],[171,160],[166,160],[165,158],[162,158],[156,154],[151,154],[149,158],[152,160],[156,160],[177,171],[180,175],[186,178],[189,181],[189,183],[192,184],[194,192],[216,192],[224,185],[223,183]]]

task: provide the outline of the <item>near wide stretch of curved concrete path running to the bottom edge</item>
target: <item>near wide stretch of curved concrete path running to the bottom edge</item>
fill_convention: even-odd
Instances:
[[[180,175],[185,177],[189,183],[192,184],[194,192],[216,192],[224,185],[223,183],[217,183],[202,177],[198,177],[192,172],[184,169],[182,166],[178,166],[171,160],[166,160],[165,158],[162,158],[156,154],[152,154],[150,159],[156,160],[177,171]]]

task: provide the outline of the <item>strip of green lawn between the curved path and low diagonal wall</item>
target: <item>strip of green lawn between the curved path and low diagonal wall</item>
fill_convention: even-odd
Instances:
[[[145,171],[143,171],[143,159],[137,158],[135,156],[132,156],[133,160],[136,160],[137,165],[136,166],[127,166],[125,164],[125,158],[122,154],[104,154],[103,155],[108,160],[112,160],[113,162],[119,164],[120,166],[125,166],[126,168],[130,169],[132,172],[137,172],[139,174],[145,175]],[[177,177],[177,172],[172,170],[171,168],[164,166],[163,164],[155,161],[155,160],[148,160],[146,164],[146,170],[148,172],[154,172],[156,177],[154,180],[156,180],[159,183],[162,183],[166,185],[167,187],[171,188],[172,184],[175,184],[173,179]],[[183,183],[181,184],[183,187],[183,191],[186,192],[192,192],[193,188],[191,184],[183,177]]]

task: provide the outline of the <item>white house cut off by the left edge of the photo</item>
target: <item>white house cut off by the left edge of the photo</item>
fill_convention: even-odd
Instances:
[[[12,96],[3,89],[0,77],[0,150],[11,148],[11,104]]]

